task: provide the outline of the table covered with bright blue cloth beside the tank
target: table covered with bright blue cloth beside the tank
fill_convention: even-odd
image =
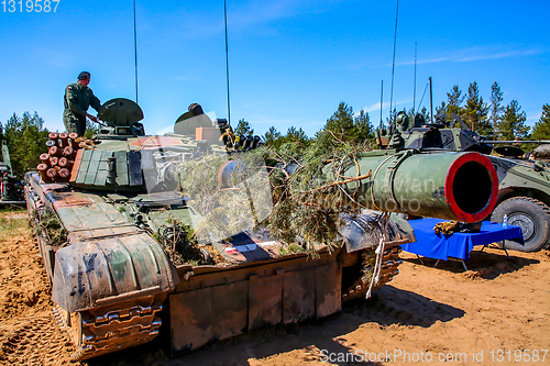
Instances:
[[[519,226],[508,225],[503,228],[499,223],[484,221],[479,233],[436,234],[433,226],[443,221],[446,220],[410,220],[408,223],[415,230],[416,242],[403,244],[402,248],[429,258],[448,260],[449,257],[452,257],[468,260],[470,259],[470,252],[475,245],[487,245],[504,240],[524,244]]]

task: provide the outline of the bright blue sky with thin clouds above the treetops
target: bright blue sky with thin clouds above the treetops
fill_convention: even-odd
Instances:
[[[340,101],[380,121],[388,114],[396,1],[227,0],[231,122],[256,134],[274,125],[311,136]],[[55,3],[52,2],[52,7]],[[133,2],[61,0],[56,12],[0,3],[0,121],[36,111],[63,131],[63,95],[81,70],[105,102],[135,100]],[[223,1],[141,1],[139,103],[147,133],[170,125],[191,102],[227,118]],[[394,103],[417,104],[428,77],[433,103],[477,81],[488,101],[497,81],[529,125],[550,103],[548,1],[399,1]],[[429,108],[429,97],[422,106]],[[90,111],[96,114],[94,110]]]

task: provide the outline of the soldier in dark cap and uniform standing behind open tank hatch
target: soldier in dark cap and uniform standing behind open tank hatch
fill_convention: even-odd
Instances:
[[[78,81],[69,84],[65,89],[63,123],[67,132],[76,132],[79,136],[84,136],[86,132],[86,118],[98,122],[95,115],[87,112],[88,108],[91,106],[96,111],[99,111],[101,107],[99,99],[88,88],[89,84],[90,73],[81,71],[78,75]]]

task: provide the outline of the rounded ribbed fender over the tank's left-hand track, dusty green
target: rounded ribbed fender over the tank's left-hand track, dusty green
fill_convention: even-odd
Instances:
[[[145,233],[76,242],[55,254],[52,300],[68,312],[168,292],[179,279]]]

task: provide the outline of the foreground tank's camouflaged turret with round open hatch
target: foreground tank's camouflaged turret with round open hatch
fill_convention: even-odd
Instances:
[[[169,191],[176,187],[174,171],[178,164],[205,154],[227,154],[226,147],[232,146],[227,120],[210,120],[199,104],[191,104],[176,120],[174,132],[162,136],[145,136],[140,123],[143,112],[128,99],[109,100],[98,118],[105,125],[89,146],[77,149],[68,179],[72,187],[112,192]]]

